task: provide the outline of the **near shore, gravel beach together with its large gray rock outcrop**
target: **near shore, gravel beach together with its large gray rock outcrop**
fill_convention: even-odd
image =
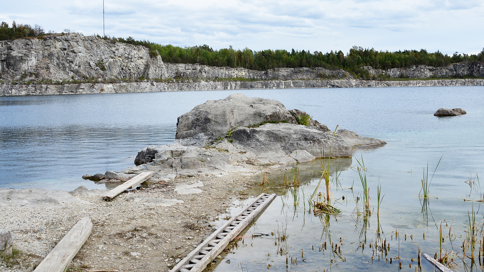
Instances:
[[[71,192],[0,189],[0,228],[11,231],[20,250],[0,262],[0,272],[32,272],[85,216],[92,234],[70,271],[167,271],[250,197],[284,194],[283,175],[294,167],[308,175],[320,167],[316,158],[340,157],[338,165],[347,168],[354,149],[385,144],[346,129],[332,132],[276,100],[240,93],[208,100],[178,118],[175,143],[144,148],[136,166],[121,172],[83,177],[121,182],[149,171],[152,177],[138,190],[105,201],[106,190],[84,186]],[[275,174],[277,184],[264,186],[263,173]]]

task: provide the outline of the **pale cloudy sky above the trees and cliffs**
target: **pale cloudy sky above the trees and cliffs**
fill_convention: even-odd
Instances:
[[[102,0],[1,0],[0,20],[103,35]],[[484,0],[105,0],[105,33],[162,45],[347,53],[484,47]]]

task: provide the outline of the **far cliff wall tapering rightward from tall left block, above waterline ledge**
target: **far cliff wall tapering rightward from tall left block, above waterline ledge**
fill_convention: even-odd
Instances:
[[[75,79],[320,79],[352,78],[343,70],[324,68],[276,68],[253,71],[242,67],[212,67],[201,64],[164,63],[151,57],[148,49],[113,43],[96,36],[76,33],[45,36],[42,39],[0,41],[0,80],[27,83]]]

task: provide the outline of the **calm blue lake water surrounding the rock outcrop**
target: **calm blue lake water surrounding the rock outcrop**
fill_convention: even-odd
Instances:
[[[208,99],[225,98],[234,92],[0,97],[0,187],[72,190],[85,185],[100,188],[101,185],[84,181],[81,176],[133,166],[137,151],[148,145],[173,142],[178,116]],[[280,188],[282,176],[274,174],[271,179],[278,183],[268,186],[267,192],[281,196],[247,231],[248,235],[265,233],[270,236],[245,238],[243,244],[239,242],[234,249],[235,254],[228,254],[226,259],[212,265],[211,270],[262,271],[270,264],[269,269],[277,271],[413,272],[417,261],[412,262],[411,258],[417,258],[417,245],[431,256],[439,252],[439,227],[443,219],[448,224],[447,227],[445,223],[442,225],[442,250],[444,253],[454,250],[451,256],[459,265],[456,269],[467,269],[470,259],[464,265],[459,258],[463,256],[460,246],[465,242],[465,231],[469,227],[468,211],[472,214],[474,208],[476,224],[484,218],[481,202],[464,201],[482,199],[476,174],[484,172],[484,87],[237,92],[279,100],[288,109],[308,112],[330,129],[339,125],[361,136],[383,139],[388,144],[354,153],[355,158],[363,157],[367,169],[371,205],[375,206],[371,216],[358,216],[354,212],[355,199],[363,194],[358,172],[350,167],[357,165],[355,158],[332,161],[333,171],[336,166],[343,170],[338,184],[333,183],[333,196],[339,199],[336,206],[342,210],[340,216],[315,216],[307,212],[308,204],[304,200],[319,180],[318,174],[312,172],[320,170],[318,162],[301,166],[302,186],[296,206],[293,196]],[[461,107],[468,114],[434,117],[439,107]],[[441,156],[430,186],[430,197],[423,205],[419,198],[423,168],[428,163],[431,176]],[[475,181],[472,187],[468,184],[471,175]],[[378,184],[385,196],[377,216]],[[352,190],[348,189],[351,187]],[[258,195],[261,188],[252,190]],[[451,224],[452,244],[449,241]],[[395,230],[399,240],[395,240]],[[278,233],[287,234],[287,240],[277,241]],[[373,252],[375,241],[380,244],[380,238],[391,244],[386,256],[384,252]],[[325,242],[327,247],[319,251]],[[338,244],[341,252],[332,252],[332,243]],[[478,247],[475,246],[476,256]],[[392,264],[390,260],[386,262],[390,257]],[[468,270],[480,270],[476,269],[479,267],[477,257],[475,261],[477,266]],[[401,270],[399,262],[402,262]],[[422,266],[423,271],[433,270],[424,260]]]

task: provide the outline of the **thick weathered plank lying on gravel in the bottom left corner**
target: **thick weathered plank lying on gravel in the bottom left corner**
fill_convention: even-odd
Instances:
[[[84,217],[62,238],[54,249],[37,266],[34,272],[64,272],[67,271],[72,259],[91,235],[92,223],[90,217]]]

